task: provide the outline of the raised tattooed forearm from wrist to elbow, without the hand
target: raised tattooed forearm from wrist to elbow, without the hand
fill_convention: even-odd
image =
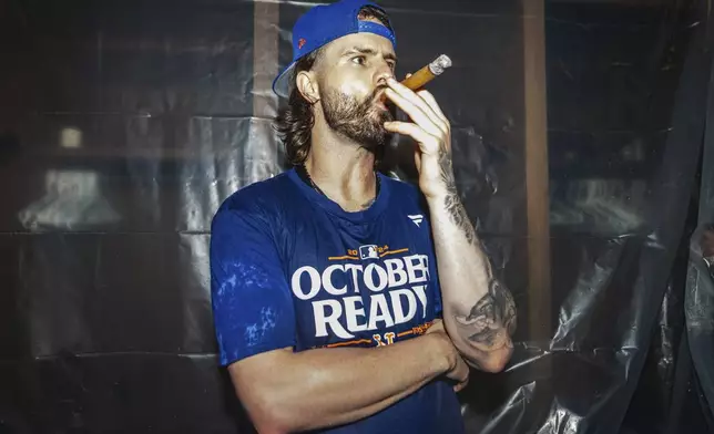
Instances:
[[[450,161],[443,163],[450,174]],[[447,190],[429,198],[443,322],[465,359],[486,371],[500,371],[512,352],[516,306],[493,278],[473,225],[459,199],[453,177]]]

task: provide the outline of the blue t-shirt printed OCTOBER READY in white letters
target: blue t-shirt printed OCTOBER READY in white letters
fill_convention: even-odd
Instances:
[[[295,169],[223,203],[211,238],[222,365],[286,347],[386,345],[422,334],[440,316],[421,196],[378,176],[375,203],[358,213],[343,210]],[[365,420],[322,432],[459,434],[463,426],[456,393],[437,380]]]

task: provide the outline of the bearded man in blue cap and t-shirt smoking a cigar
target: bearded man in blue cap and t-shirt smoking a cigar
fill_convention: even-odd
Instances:
[[[449,123],[394,80],[376,4],[315,7],[293,44],[274,90],[295,167],[213,220],[221,363],[262,433],[461,433],[463,359],[502,370],[516,313],[457,195]],[[389,134],[417,142],[419,188],[375,170]]]

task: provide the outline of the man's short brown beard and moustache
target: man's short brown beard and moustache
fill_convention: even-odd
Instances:
[[[377,87],[364,101],[337,90],[328,91],[323,97],[325,122],[330,128],[359,143],[367,151],[374,152],[382,147],[389,136],[384,123],[394,121],[389,110],[376,105],[377,94],[385,89]]]

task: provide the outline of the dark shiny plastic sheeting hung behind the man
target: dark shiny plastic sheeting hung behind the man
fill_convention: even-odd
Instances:
[[[705,431],[712,282],[687,230],[706,1],[547,4],[543,311],[528,282],[521,4],[382,4],[400,74],[442,52],[455,61],[430,89],[452,122],[465,204],[519,308],[507,372],[475,372],[461,395],[469,431]],[[208,230],[227,195],[284,169],[266,85],[308,6],[0,6],[0,428],[251,431],[216,365]],[[387,161],[410,179],[399,149]],[[714,218],[708,167],[702,220]]]

